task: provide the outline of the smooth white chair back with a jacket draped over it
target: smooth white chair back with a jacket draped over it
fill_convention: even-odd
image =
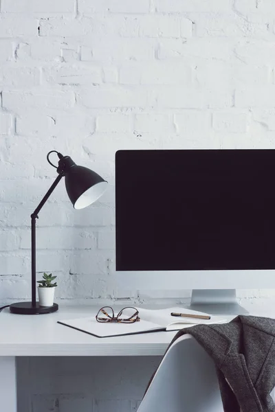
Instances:
[[[214,363],[190,334],[169,348],[137,412],[223,412]]]

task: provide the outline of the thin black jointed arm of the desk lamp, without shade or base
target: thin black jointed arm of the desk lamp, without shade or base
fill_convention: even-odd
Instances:
[[[30,215],[32,219],[32,306],[36,306],[36,219],[39,218],[39,211],[41,211],[42,207],[47,202],[47,199],[50,197],[54,189],[58,185],[58,183],[63,178],[63,174],[58,174],[54,183],[47,191],[45,196],[43,197],[42,201],[36,207],[34,212]]]

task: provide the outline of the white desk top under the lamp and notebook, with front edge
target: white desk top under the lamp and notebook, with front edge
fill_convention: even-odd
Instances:
[[[0,356],[162,356],[176,334],[153,332],[97,338],[57,323],[89,317],[97,310],[95,306],[61,304],[58,312],[26,316],[11,314],[6,308],[0,312]],[[252,314],[268,316],[263,310]]]

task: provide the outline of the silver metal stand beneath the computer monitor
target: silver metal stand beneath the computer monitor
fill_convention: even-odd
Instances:
[[[193,289],[190,309],[210,314],[248,314],[237,303],[235,289]]]

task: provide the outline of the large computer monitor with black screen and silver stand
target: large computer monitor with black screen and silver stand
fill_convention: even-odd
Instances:
[[[236,288],[275,288],[275,150],[119,150],[116,271],[129,288],[192,289],[241,314]]]

